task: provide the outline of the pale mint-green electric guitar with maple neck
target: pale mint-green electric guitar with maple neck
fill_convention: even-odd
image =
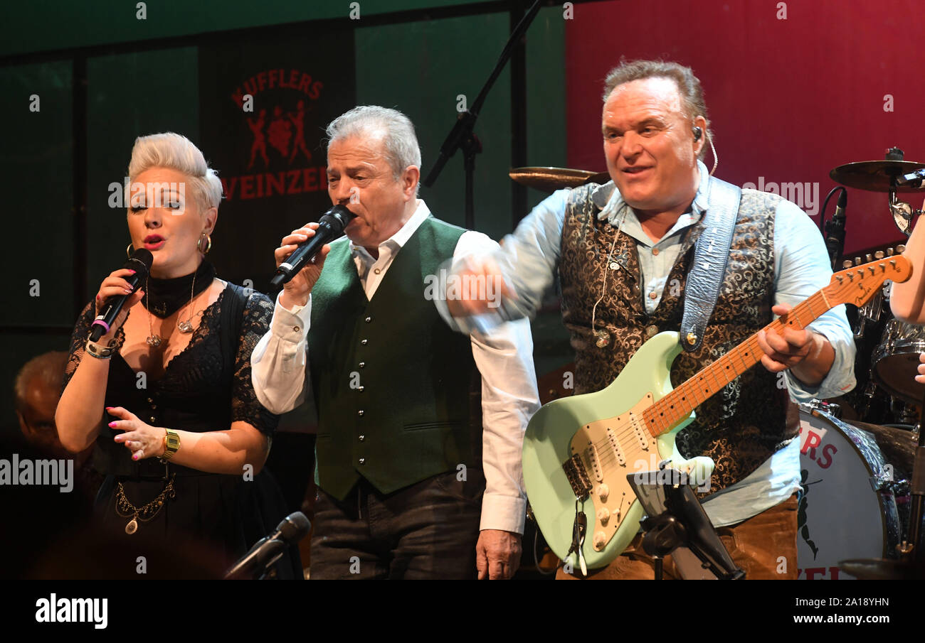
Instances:
[[[861,306],[884,281],[904,282],[911,273],[901,255],[836,273],[829,285],[763,330],[805,328],[826,310],[845,303]],[[709,479],[713,461],[685,460],[674,436],[694,419],[697,406],[759,363],[764,353],[757,335],[672,390],[670,370],[682,350],[678,334],[657,334],[604,390],[555,400],[536,412],[524,435],[524,483],[552,552],[580,568],[575,552],[569,553],[576,500],[586,516],[581,548],[586,567],[604,566],[623,552],[642,516],[628,474],[655,470],[668,460],[689,479]]]

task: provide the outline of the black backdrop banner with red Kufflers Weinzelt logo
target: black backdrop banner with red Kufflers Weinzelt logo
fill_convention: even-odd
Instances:
[[[200,47],[200,148],[225,196],[219,277],[267,292],[279,240],[330,207],[322,139],[355,105],[354,72],[352,30]]]

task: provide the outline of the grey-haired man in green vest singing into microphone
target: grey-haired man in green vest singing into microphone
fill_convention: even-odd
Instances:
[[[285,285],[252,357],[270,410],[314,393],[311,577],[510,578],[539,406],[530,328],[457,334],[433,301],[441,263],[497,244],[417,198],[421,152],[401,112],[356,107],[327,136],[331,201],[356,217]],[[316,228],[283,237],[277,265]]]

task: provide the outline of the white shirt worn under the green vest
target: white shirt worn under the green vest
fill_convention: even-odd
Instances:
[[[347,239],[353,262],[367,298],[386,276],[388,267],[417,228],[430,216],[423,200],[401,230],[379,244],[379,257]],[[480,232],[462,233],[453,258],[482,254],[498,243]],[[423,285],[422,285],[423,287]],[[251,378],[257,399],[274,413],[285,413],[302,404],[308,382],[305,363],[306,337],[312,317],[312,297],[305,306],[283,308],[277,297],[270,330],[253,348]],[[526,492],[521,467],[524,431],[539,408],[533,337],[527,320],[500,324],[485,334],[470,334],[475,366],[482,375],[482,468],[486,490],[482,499],[480,529],[524,533]]]

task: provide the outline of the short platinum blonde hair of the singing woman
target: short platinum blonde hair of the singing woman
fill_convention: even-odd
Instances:
[[[129,161],[129,180],[152,167],[166,167],[189,177],[192,198],[200,208],[217,208],[222,200],[222,182],[207,163],[203,152],[181,134],[162,132],[135,139]]]

